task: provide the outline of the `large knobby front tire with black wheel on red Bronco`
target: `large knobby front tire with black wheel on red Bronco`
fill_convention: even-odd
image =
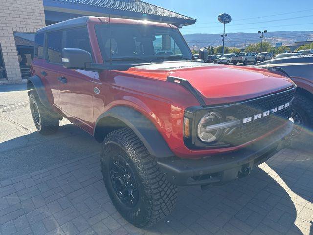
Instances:
[[[125,168],[128,170],[125,172],[129,172],[130,168],[137,182],[133,183],[137,189],[127,193],[127,195],[136,195],[136,191],[139,192],[134,205],[126,205],[115,191],[114,179],[116,178],[112,175],[116,174],[116,170],[112,173],[110,164],[112,165],[116,158],[122,158],[121,161],[124,163],[118,165],[127,164]],[[115,162],[113,163],[116,165]],[[159,170],[155,157],[149,154],[142,141],[130,128],[112,131],[105,137],[102,143],[101,171],[112,203],[117,211],[134,226],[150,227],[173,211],[177,199],[177,187],[168,182]],[[127,179],[122,182],[126,182],[129,186]]]

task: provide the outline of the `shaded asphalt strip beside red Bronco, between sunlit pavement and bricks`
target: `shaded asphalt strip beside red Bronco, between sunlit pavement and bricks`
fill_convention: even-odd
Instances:
[[[0,143],[0,181],[99,152],[100,144],[74,124],[56,134],[32,132]]]

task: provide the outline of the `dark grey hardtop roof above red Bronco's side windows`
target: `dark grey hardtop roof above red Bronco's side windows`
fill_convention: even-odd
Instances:
[[[66,21],[61,21],[61,22],[40,28],[37,30],[37,33],[60,30],[60,29],[64,29],[64,28],[86,26],[86,22],[88,21],[89,18],[94,18],[94,16],[82,16],[82,17],[77,17],[74,19],[69,19]]]

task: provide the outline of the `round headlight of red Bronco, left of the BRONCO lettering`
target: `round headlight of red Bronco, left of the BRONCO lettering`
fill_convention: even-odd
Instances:
[[[198,137],[201,141],[211,143],[221,138],[223,129],[207,130],[206,127],[223,122],[223,116],[218,112],[210,112],[201,118],[198,124]]]

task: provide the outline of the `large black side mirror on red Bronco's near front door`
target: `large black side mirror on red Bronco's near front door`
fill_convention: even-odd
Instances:
[[[92,63],[92,56],[82,49],[62,49],[62,65],[67,69],[85,69],[86,63]]]

